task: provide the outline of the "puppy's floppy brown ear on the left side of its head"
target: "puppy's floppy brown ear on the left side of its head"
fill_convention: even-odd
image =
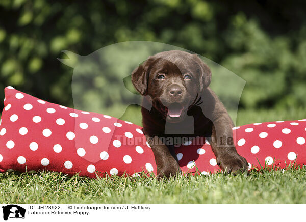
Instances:
[[[132,83],[135,89],[141,94],[147,94],[148,88],[148,79],[149,79],[149,68],[152,62],[154,61],[153,58],[147,59],[145,62],[140,64],[134,71],[132,72]]]

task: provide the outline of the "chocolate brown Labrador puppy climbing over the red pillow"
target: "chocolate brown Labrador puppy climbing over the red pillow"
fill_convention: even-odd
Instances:
[[[245,171],[248,163],[233,142],[233,121],[208,87],[210,68],[196,54],[180,50],[150,56],[132,73],[135,89],[143,95],[143,129],[154,152],[158,178],[180,172],[173,144],[161,138],[208,136],[217,164],[227,172]],[[157,138],[155,140],[153,138]]]

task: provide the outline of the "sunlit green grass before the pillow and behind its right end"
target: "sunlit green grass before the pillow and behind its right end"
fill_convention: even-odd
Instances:
[[[303,119],[302,109],[240,110],[237,125]],[[0,175],[2,203],[306,203],[306,168],[245,175],[179,176],[169,180],[88,179],[61,173]]]

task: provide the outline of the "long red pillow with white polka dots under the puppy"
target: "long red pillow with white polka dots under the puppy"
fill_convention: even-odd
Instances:
[[[0,172],[50,170],[96,177],[156,174],[154,155],[141,128],[116,118],[48,103],[5,89],[0,122]],[[249,165],[306,163],[306,119],[255,123],[233,129],[240,155]],[[205,138],[176,148],[183,172],[219,170]],[[195,165],[197,167],[195,167]]]

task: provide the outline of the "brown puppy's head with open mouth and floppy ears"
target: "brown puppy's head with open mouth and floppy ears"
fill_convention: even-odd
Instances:
[[[149,57],[132,73],[132,82],[141,95],[168,122],[181,122],[188,109],[211,82],[210,68],[196,54],[173,50]]]

